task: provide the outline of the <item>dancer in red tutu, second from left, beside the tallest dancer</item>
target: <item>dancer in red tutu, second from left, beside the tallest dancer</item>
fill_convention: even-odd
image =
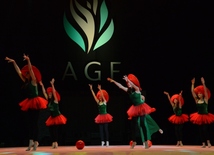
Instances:
[[[50,117],[47,119],[46,126],[49,127],[51,139],[52,139],[52,148],[58,148],[58,128],[62,124],[66,124],[67,118],[61,114],[59,111],[59,101],[60,95],[56,91],[54,87],[54,78],[50,81],[51,87],[47,88],[47,92],[45,91],[45,87],[42,81],[39,84],[42,87],[42,92],[45,98],[48,100],[48,110],[50,111]]]

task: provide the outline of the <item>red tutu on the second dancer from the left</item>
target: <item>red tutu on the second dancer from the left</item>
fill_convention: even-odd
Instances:
[[[59,116],[52,117],[50,116],[47,121],[45,122],[46,126],[51,126],[51,125],[62,125],[66,124],[67,118],[60,114]]]

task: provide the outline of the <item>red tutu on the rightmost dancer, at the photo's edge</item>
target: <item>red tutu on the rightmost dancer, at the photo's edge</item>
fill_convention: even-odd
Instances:
[[[190,121],[193,124],[201,125],[201,124],[211,124],[214,122],[214,115],[211,113],[208,114],[198,114],[193,113],[190,115]]]

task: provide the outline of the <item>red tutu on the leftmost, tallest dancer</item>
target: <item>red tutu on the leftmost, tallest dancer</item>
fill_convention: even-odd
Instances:
[[[34,98],[27,98],[19,103],[21,106],[21,110],[27,111],[28,109],[39,110],[39,109],[46,109],[48,101],[42,97],[34,97]]]

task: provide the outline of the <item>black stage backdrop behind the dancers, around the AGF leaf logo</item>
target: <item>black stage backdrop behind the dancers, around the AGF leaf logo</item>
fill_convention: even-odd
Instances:
[[[85,4],[83,0],[79,2]],[[163,91],[173,95],[183,90],[183,112],[186,114],[196,111],[190,93],[193,77],[199,85],[203,76],[207,87],[214,92],[211,1],[109,0],[107,5],[115,26],[113,37],[89,54],[72,42],[64,31],[63,15],[68,10],[68,0],[1,0],[0,3],[1,146],[27,144],[26,116],[18,106],[24,99],[22,81],[12,64],[4,61],[6,56],[14,58],[22,67],[26,64],[22,55],[28,54],[32,64],[40,69],[46,87],[51,78],[56,79],[56,88],[62,98],[60,109],[68,118],[68,123],[60,128],[61,145],[74,145],[78,139],[83,139],[86,145],[100,144],[98,126],[94,123],[97,106],[88,83],[94,85],[95,91],[97,84],[102,84],[109,92],[108,112],[114,117],[109,124],[110,143],[128,144],[131,140],[126,115],[129,99],[122,90],[107,82],[110,62],[121,62],[115,67],[119,70],[114,74],[115,80],[125,84],[123,75],[135,74],[146,94],[146,102],[156,107],[157,111],[151,116],[164,134],[155,133],[153,144],[174,145],[176,142],[173,125],[167,120],[173,111]],[[84,76],[84,67],[91,61],[101,63],[89,71],[91,76],[97,76],[94,71],[100,70],[101,80],[90,81]],[[71,62],[77,80],[62,79],[68,62]],[[211,113],[214,113],[213,102],[211,97]],[[41,111],[40,145],[50,145],[44,125],[47,117],[47,111]],[[213,134],[211,126],[212,141]],[[197,126],[185,124],[183,143],[200,144]]]

